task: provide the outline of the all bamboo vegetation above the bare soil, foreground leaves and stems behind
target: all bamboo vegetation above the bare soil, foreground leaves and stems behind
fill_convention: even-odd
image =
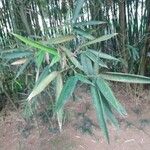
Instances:
[[[16,111],[23,104],[29,118],[48,97],[61,131],[64,104],[86,83],[109,141],[107,121],[118,126],[113,112],[126,111],[106,80],[150,83],[149,8],[149,0],[1,0],[0,100]]]

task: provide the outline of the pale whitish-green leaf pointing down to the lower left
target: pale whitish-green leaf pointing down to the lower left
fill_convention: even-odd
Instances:
[[[50,73],[47,77],[45,77],[31,92],[31,94],[28,96],[27,100],[30,101],[33,97],[40,94],[49,84],[51,81],[53,81],[59,72],[54,71]]]

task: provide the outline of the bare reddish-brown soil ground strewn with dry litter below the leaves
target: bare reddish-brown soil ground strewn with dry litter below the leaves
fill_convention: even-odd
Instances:
[[[66,106],[68,121],[62,133],[52,134],[46,125],[38,122],[36,127],[28,127],[15,111],[5,108],[0,112],[0,150],[149,150],[150,92],[145,90],[136,97],[120,86],[113,89],[127,109],[128,116],[118,117],[120,129],[109,125],[110,144],[98,128],[88,89],[79,88],[76,91],[77,101]],[[90,130],[82,133],[86,125]]]

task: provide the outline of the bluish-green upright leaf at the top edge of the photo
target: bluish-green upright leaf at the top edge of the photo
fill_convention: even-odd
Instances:
[[[76,22],[77,18],[79,17],[79,14],[80,14],[81,8],[83,7],[84,1],[85,0],[77,0],[76,1],[76,6],[74,9],[73,19],[72,19],[74,23]]]

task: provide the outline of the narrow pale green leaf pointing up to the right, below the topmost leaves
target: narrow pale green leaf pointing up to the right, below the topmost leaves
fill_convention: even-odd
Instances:
[[[103,35],[103,36],[101,36],[101,37],[99,37],[99,38],[96,38],[96,39],[94,39],[94,40],[92,40],[92,41],[89,41],[89,42],[87,42],[87,43],[81,45],[80,47],[82,48],[82,47],[85,47],[85,46],[89,46],[89,45],[91,45],[91,44],[95,44],[95,43],[98,43],[98,42],[102,42],[102,41],[109,40],[110,38],[114,37],[115,35],[117,35],[117,33],[108,34],[108,35]]]

